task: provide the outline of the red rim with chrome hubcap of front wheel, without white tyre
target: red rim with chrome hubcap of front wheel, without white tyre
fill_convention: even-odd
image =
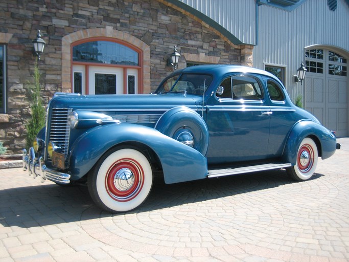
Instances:
[[[142,191],[144,171],[142,166],[130,158],[114,162],[107,171],[105,188],[116,201],[127,202],[134,199]]]

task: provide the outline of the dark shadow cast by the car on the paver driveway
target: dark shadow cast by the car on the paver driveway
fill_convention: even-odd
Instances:
[[[322,175],[315,173],[312,179]],[[167,185],[156,179],[145,203],[128,213],[142,213],[189,203],[234,196],[257,190],[297,183],[285,170],[255,172],[242,176]],[[87,212],[85,212],[89,209]],[[95,207],[87,187],[61,187],[55,184],[11,188],[0,191],[0,224],[31,228],[124,215],[110,214]],[[87,215],[88,214],[88,215]]]

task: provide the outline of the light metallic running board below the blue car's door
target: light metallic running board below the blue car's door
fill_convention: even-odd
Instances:
[[[242,174],[250,172],[265,171],[271,169],[279,169],[292,166],[290,163],[270,163],[263,165],[236,167],[236,168],[226,168],[226,169],[213,169],[208,170],[207,178],[217,178],[223,176],[230,176],[232,174]]]

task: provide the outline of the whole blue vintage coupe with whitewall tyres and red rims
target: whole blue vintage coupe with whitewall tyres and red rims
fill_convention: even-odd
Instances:
[[[32,176],[87,184],[99,207],[118,212],[146,200],[156,172],[171,184],[286,168],[303,181],[336,146],[273,75],[200,65],[172,73],[155,94],[56,94],[23,160]]]

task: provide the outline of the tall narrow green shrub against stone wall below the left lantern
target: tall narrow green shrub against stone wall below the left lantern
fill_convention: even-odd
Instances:
[[[33,80],[34,83],[31,85],[29,91],[31,92],[32,97],[32,103],[31,103],[31,111],[32,111],[32,117],[29,119],[27,127],[27,141],[26,141],[26,148],[29,149],[33,145],[33,142],[36,138],[36,135],[40,131],[42,127],[45,125],[45,108],[42,103],[40,90],[41,90],[41,84],[40,84],[40,71],[37,66],[37,62],[35,62],[34,65],[34,74],[33,74]]]

